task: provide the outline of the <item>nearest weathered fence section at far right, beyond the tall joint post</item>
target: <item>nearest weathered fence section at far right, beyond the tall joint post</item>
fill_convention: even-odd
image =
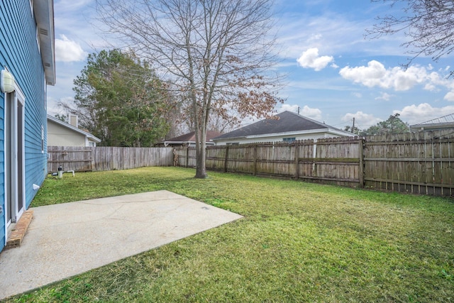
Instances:
[[[367,137],[365,186],[453,196],[453,148],[453,130]]]

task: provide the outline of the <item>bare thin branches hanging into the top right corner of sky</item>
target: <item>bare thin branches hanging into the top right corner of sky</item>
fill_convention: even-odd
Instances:
[[[407,65],[420,55],[434,61],[454,50],[453,0],[372,0],[402,6],[402,16],[378,16],[379,23],[367,30],[367,35],[380,38],[402,32],[409,38],[402,46],[412,55]],[[453,72],[451,72],[451,76]]]

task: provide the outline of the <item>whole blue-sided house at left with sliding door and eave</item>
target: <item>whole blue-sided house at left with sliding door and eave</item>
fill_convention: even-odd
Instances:
[[[55,84],[52,0],[0,4],[0,250],[47,175],[47,85]]]

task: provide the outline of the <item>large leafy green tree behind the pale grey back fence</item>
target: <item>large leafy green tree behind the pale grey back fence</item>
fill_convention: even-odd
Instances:
[[[167,85],[134,53],[102,50],[88,56],[74,79],[79,126],[105,146],[150,146],[164,138],[172,108]]]

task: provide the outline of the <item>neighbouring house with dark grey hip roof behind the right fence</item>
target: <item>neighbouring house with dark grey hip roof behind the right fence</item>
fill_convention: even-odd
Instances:
[[[224,133],[213,138],[216,145],[237,145],[258,142],[292,142],[296,140],[354,137],[354,133],[328,126],[325,123],[284,111],[275,116],[278,119],[265,119]]]

